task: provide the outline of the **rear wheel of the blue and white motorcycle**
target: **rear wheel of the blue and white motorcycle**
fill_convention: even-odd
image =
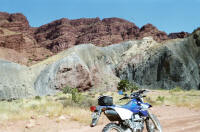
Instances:
[[[116,123],[109,123],[103,128],[102,132],[123,132],[123,129]]]

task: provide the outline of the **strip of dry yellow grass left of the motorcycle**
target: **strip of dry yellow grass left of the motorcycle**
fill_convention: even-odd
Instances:
[[[25,120],[31,116],[47,116],[49,118],[68,115],[72,120],[81,123],[91,121],[89,107],[96,105],[96,99],[83,95],[79,103],[72,101],[71,95],[58,93],[55,96],[44,96],[29,99],[0,101],[0,122],[4,120]]]

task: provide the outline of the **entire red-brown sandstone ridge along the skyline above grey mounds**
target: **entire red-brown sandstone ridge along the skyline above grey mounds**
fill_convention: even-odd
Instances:
[[[108,46],[148,36],[162,42],[184,38],[187,34],[175,33],[168,36],[151,24],[146,24],[140,29],[134,23],[120,18],[103,20],[62,18],[33,28],[21,13],[0,12],[0,49],[4,53],[13,50],[13,54],[17,53],[17,56],[23,56],[25,59],[15,55],[11,57],[12,59],[5,55],[0,58],[28,66],[78,44],[92,43],[96,46]]]

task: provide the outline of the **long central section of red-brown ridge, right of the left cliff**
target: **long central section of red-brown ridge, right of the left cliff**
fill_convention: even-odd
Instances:
[[[138,31],[135,24],[119,18],[60,19],[39,27],[35,38],[41,46],[57,53],[82,43],[107,46],[135,39]]]

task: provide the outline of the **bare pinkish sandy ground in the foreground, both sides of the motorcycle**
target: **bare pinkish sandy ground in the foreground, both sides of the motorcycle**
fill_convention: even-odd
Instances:
[[[161,121],[164,132],[200,132],[200,110],[174,106],[159,106],[151,110]],[[90,115],[88,115],[90,116]],[[40,117],[17,122],[0,124],[0,132],[101,132],[109,121],[102,117],[99,124],[89,125],[71,121],[69,117]]]

